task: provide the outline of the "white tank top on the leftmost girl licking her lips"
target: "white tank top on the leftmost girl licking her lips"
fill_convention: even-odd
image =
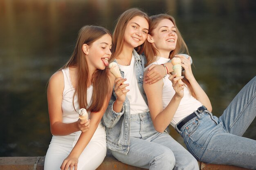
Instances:
[[[63,123],[72,123],[79,119],[78,111],[80,109],[78,104],[77,95],[74,97],[75,89],[72,86],[70,79],[70,70],[69,68],[65,68],[61,70],[64,76],[64,90],[62,94],[62,114],[63,114]],[[91,105],[92,99],[92,90],[93,86],[87,88],[87,101],[90,101],[89,106]],[[73,105],[73,97],[74,97],[74,105]],[[76,110],[75,110],[75,109]],[[90,112],[88,112],[88,116],[90,117]]]

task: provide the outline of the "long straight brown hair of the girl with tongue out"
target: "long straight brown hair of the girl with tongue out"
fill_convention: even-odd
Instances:
[[[92,112],[98,112],[101,110],[103,106],[104,99],[108,93],[109,87],[109,79],[107,76],[106,69],[105,70],[97,70],[92,75],[92,85],[93,85],[93,93],[92,93],[92,104],[90,107],[88,105],[90,101],[87,101],[87,86],[89,79],[89,69],[88,62],[85,59],[85,54],[83,53],[82,46],[83,44],[87,44],[88,46],[92,45],[92,43],[103,35],[109,34],[111,36],[110,31],[101,27],[101,26],[93,26],[86,25],[83,26],[79,33],[76,41],[75,49],[67,61],[67,63],[60,68],[64,69],[67,67],[77,67],[77,85],[75,89],[75,94],[78,95],[78,102],[80,108],[86,108]],[[94,83],[95,82],[95,83]],[[74,105],[74,97],[73,97],[73,105]]]

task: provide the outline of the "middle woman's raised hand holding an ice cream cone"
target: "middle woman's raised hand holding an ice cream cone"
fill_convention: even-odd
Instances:
[[[117,95],[117,101],[119,102],[124,102],[126,98],[126,93],[130,90],[126,90],[126,87],[129,86],[129,84],[124,84],[126,79],[123,79],[121,77],[117,77],[115,79],[115,93]]]

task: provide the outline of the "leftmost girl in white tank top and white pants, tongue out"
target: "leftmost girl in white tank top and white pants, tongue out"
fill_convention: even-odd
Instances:
[[[53,137],[45,170],[95,170],[106,156],[101,118],[112,93],[105,71],[111,45],[107,29],[83,26],[70,60],[50,78],[47,99]],[[79,119],[80,108],[87,109],[89,121]]]

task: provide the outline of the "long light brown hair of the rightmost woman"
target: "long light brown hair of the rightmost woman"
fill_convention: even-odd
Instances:
[[[171,20],[171,22],[173,22],[173,25],[176,27],[176,34],[177,34],[176,47],[173,51],[170,52],[169,58],[172,59],[174,57],[174,55],[179,54],[179,53],[189,54],[188,47],[186,46],[186,43],[185,43],[184,39],[182,38],[182,35],[181,35],[179,29],[177,28],[175,19],[171,15],[162,13],[162,14],[150,16],[150,26],[149,26],[148,34],[153,36],[153,30],[156,29],[159,22],[164,19],[168,19],[168,20]],[[147,59],[147,63],[145,64],[146,66],[148,66],[149,64],[156,61],[155,56],[157,56],[157,49],[153,46],[152,43],[148,42],[147,40],[144,42],[144,54]],[[193,95],[195,97],[193,89],[192,89],[189,81],[186,79],[186,77],[184,77],[182,79],[182,81],[189,88],[191,95]]]

